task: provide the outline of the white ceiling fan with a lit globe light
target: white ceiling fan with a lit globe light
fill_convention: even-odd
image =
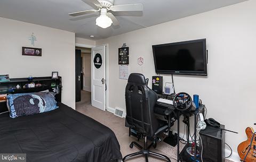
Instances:
[[[83,0],[82,0],[83,1]],[[114,5],[115,0],[89,0],[95,6],[97,6],[98,10],[86,10],[70,13],[70,16],[81,16],[85,14],[100,12],[100,16],[96,19],[96,25],[101,28],[108,28],[113,25],[119,25],[119,21],[116,17],[108,12],[108,11],[143,11],[142,4],[125,4],[125,5]]]

